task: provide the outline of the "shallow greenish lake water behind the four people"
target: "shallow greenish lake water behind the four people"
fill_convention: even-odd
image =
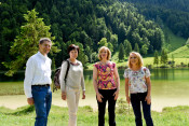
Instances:
[[[162,111],[164,107],[189,106],[189,69],[152,69],[152,110]],[[120,73],[120,96],[125,99],[124,70]],[[86,99],[80,100],[80,106],[97,108],[95,92],[92,83],[92,71],[84,71]],[[24,72],[18,72],[14,78],[4,76],[0,73],[0,106],[16,109],[26,106],[26,97],[23,95]],[[16,94],[16,95],[15,95]],[[66,107],[60,99],[60,92],[53,93],[53,104]]]

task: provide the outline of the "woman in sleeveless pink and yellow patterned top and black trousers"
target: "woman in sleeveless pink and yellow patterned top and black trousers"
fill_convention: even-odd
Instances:
[[[111,52],[108,47],[99,48],[99,62],[94,65],[93,85],[98,103],[98,126],[105,126],[105,110],[108,101],[109,126],[116,126],[116,102],[120,90],[120,78],[116,64],[109,61]]]

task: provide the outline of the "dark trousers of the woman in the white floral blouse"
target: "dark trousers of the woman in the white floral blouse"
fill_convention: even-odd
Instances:
[[[131,103],[135,114],[136,126],[143,126],[140,102],[143,106],[143,112],[146,125],[153,126],[153,122],[151,118],[151,104],[147,104],[147,101],[145,101],[146,96],[147,93],[131,94]]]

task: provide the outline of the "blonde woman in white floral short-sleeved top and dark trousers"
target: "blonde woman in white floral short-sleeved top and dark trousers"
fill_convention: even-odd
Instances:
[[[143,126],[140,102],[147,126],[153,126],[150,71],[143,67],[143,58],[139,53],[130,54],[129,68],[124,71],[123,76],[125,78],[126,101],[132,103],[136,126]]]

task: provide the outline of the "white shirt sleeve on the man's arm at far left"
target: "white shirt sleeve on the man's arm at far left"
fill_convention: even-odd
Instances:
[[[24,92],[27,98],[31,98],[31,85],[35,76],[35,61],[29,58],[26,64],[25,80],[24,80]]]

